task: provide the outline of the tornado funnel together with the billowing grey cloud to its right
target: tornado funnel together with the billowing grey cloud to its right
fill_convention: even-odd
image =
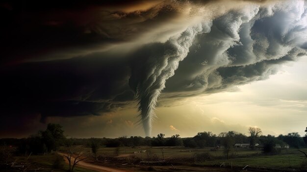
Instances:
[[[293,31],[291,29],[301,28],[300,31],[306,32],[306,24],[299,22],[306,18],[303,1],[296,2],[242,2],[236,7],[229,4],[223,12],[207,6],[193,8],[201,16],[196,24],[171,36],[164,43],[150,44],[149,47],[155,51],[146,50],[147,53],[153,52],[147,57],[143,54],[142,58],[146,60],[140,60],[138,65],[142,67],[132,67],[130,78],[134,82],[132,88],[136,92],[140,122],[146,135],[151,135],[157,99],[172,76],[175,75],[168,82],[170,85],[165,95],[178,90],[185,90],[190,94],[188,96],[214,93],[233,85],[266,79],[268,75],[276,73],[277,64],[295,60],[298,54],[304,53],[305,49],[297,48],[300,47],[299,41],[294,41],[298,38],[289,35]],[[287,7],[290,10],[286,10]],[[292,23],[292,28],[285,25],[289,20],[280,18],[289,13],[292,14],[289,18],[296,21]],[[263,25],[268,25],[263,24],[266,20],[279,21],[276,23],[278,26],[269,25],[268,30],[263,30]],[[179,62],[186,57],[190,61],[185,61],[181,66],[183,68],[180,68]],[[189,63],[190,66],[185,66]],[[175,71],[178,68],[181,75],[177,76]],[[190,78],[182,73],[188,73],[186,77]],[[191,77],[193,75],[194,78]]]

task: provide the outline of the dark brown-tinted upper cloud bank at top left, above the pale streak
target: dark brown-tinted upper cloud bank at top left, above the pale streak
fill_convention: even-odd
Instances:
[[[3,2],[1,62],[72,58],[134,41],[178,18],[176,6],[183,2],[162,2]]]

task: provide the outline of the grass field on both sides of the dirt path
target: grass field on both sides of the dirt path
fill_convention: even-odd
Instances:
[[[60,151],[65,152],[67,147],[61,147]],[[90,147],[75,146],[72,147],[75,152],[83,152],[84,156],[88,156],[87,161],[94,162],[93,154]],[[205,167],[222,167],[242,169],[248,165],[253,169],[277,169],[277,170],[307,170],[307,158],[298,149],[282,149],[280,153],[274,155],[263,154],[261,150],[251,149],[233,149],[230,152],[230,158],[227,159],[223,149],[216,151],[212,147],[205,148],[185,148],[185,147],[100,147],[98,155],[109,157],[108,162],[101,161],[103,166],[112,166],[125,168],[124,163],[138,164],[139,161],[146,161],[152,158],[162,160],[163,157],[168,164],[176,166],[205,166]],[[143,152],[146,150],[145,152]],[[307,152],[307,148],[300,150]],[[134,153],[141,152],[141,153]],[[110,158],[111,157],[111,158]],[[27,160],[25,157],[14,157],[18,162],[28,162],[35,167],[44,168],[44,171],[65,172],[68,165],[64,163],[59,169],[54,169],[54,160],[56,154],[51,155],[31,155]],[[117,160],[118,159],[118,160]],[[113,162],[114,161],[114,162]],[[132,163],[133,162],[133,163]],[[117,164],[117,165],[116,165]],[[150,166],[150,165],[149,165]],[[128,166],[126,168],[129,168]],[[1,171],[0,172],[6,172]],[[76,167],[75,172],[93,172],[83,168]]]

